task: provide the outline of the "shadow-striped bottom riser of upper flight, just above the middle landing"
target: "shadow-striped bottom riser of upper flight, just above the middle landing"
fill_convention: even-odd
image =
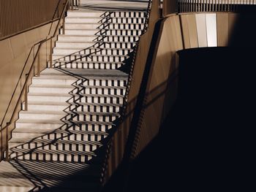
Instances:
[[[122,64],[90,64],[90,63],[58,63],[54,65],[55,67],[61,67],[66,69],[118,69],[123,66]]]

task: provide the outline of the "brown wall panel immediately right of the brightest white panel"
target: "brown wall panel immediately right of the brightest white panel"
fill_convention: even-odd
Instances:
[[[217,44],[219,47],[228,43],[228,13],[217,13]]]

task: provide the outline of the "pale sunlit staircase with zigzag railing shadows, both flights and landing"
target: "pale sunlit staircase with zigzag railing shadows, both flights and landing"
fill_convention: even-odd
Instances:
[[[67,12],[53,68],[33,77],[0,191],[100,191],[104,139],[116,125],[143,11]],[[103,155],[102,155],[103,154]]]

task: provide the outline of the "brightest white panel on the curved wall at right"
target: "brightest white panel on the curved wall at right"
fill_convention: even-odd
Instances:
[[[208,47],[217,47],[217,18],[216,14],[206,14],[206,31]]]

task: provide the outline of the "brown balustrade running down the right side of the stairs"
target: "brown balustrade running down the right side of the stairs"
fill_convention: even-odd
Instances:
[[[131,57],[131,69],[127,80],[127,91],[124,96],[124,106],[121,109],[121,118],[119,118],[118,122],[116,122],[116,129],[112,132],[109,140],[106,142],[105,161],[102,166],[101,174],[102,185],[108,183],[108,180],[121,164],[125,155],[124,153],[127,146],[131,118],[136,103],[136,98],[133,97],[136,95],[136,93],[133,94],[134,88],[132,88],[133,93],[130,93],[130,88],[134,85],[134,83],[137,84],[135,88],[136,90],[140,87],[140,81],[135,80],[134,77],[143,76],[143,65],[146,63],[146,58],[148,56],[154,25],[160,17],[159,9],[161,8],[161,4],[159,4],[159,2],[160,1],[148,1],[148,9],[143,33],[138,40],[138,44],[135,46],[134,53]],[[138,66],[142,67],[141,71],[137,69]],[[139,75],[134,74],[135,72],[139,71]]]

